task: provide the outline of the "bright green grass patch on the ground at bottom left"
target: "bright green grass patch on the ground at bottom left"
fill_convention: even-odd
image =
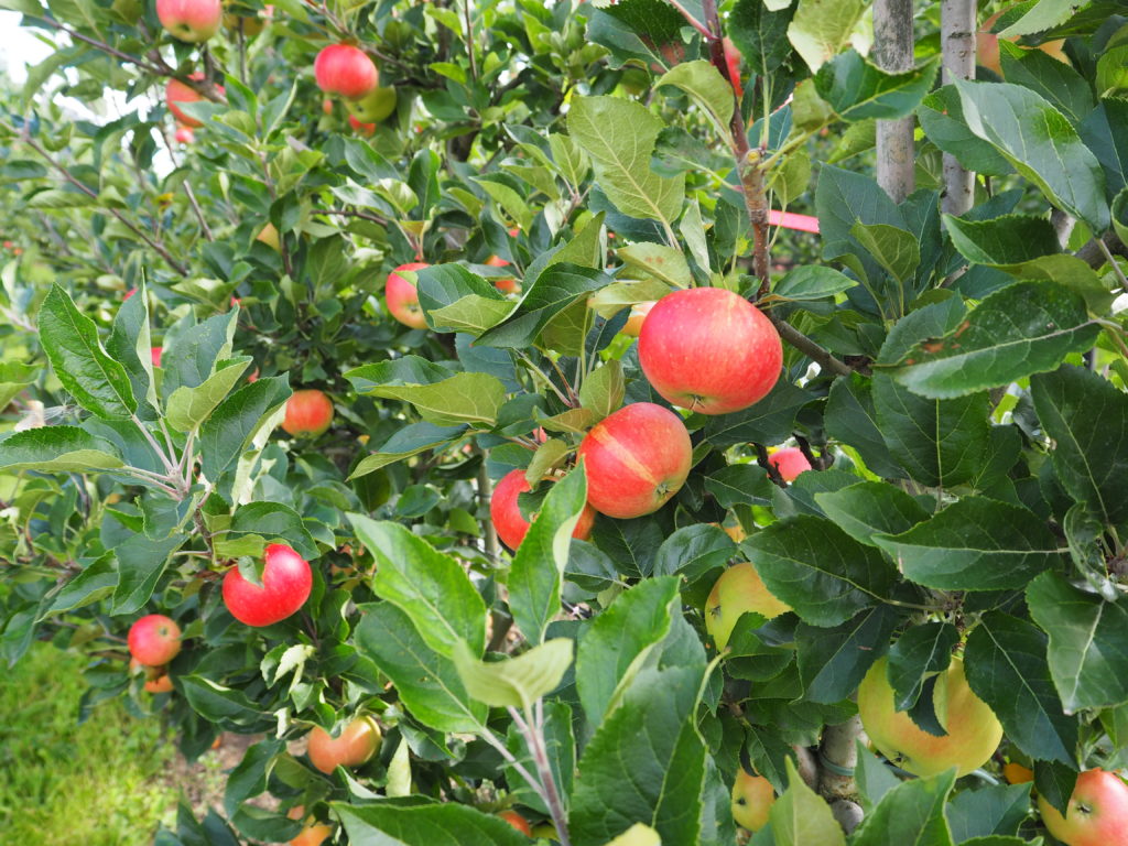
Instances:
[[[140,846],[175,813],[175,750],[157,720],[115,700],[77,723],[85,664],[35,644],[0,668],[0,843]]]

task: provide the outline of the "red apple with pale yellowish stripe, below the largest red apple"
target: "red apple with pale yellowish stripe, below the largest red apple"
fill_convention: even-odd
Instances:
[[[653,403],[619,408],[580,443],[588,502],[620,520],[653,513],[685,484],[693,451],[686,424],[668,408]]]

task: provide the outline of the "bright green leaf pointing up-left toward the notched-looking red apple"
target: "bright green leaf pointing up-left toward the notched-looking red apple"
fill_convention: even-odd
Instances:
[[[363,514],[347,517],[376,559],[372,591],[406,614],[440,655],[452,658],[461,642],[481,656],[486,606],[461,565],[404,526]]]

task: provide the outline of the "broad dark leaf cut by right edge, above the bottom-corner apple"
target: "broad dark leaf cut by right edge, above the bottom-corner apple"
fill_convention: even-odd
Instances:
[[[1049,635],[1047,660],[1067,714],[1128,702],[1128,602],[1108,602],[1042,573],[1026,588],[1026,603]]]

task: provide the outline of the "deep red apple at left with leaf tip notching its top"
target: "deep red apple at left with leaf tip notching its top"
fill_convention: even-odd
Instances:
[[[223,576],[223,605],[248,626],[285,619],[306,603],[314,587],[309,563],[285,544],[267,546],[264,558],[262,587],[244,579],[238,567]]]

